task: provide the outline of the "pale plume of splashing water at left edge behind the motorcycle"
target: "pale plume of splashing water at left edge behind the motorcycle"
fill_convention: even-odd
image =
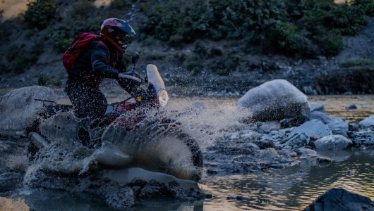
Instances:
[[[56,101],[57,97],[52,89],[32,86],[9,91],[0,98],[0,129],[24,129],[34,120],[37,112],[42,108],[44,99]]]

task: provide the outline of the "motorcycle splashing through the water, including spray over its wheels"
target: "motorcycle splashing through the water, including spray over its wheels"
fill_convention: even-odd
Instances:
[[[138,53],[134,53],[131,59],[133,70],[135,70],[138,58]],[[126,87],[126,84],[121,84],[121,81],[119,83],[123,89]],[[107,167],[144,167],[146,170],[164,172],[179,179],[194,181],[200,179],[203,155],[198,143],[179,129],[181,125],[179,122],[159,115],[162,113],[160,108],[167,106],[169,96],[155,65],[147,65],[145,84],[131,91],[130,98],[107,106],[106,113],[101,120],[104,125],[101,125],[99,129],[91,130],[81,127],[78,123],[72,124],[71,120],[75,117],[71,105],[61,105],[44,99],[35,100],[42,102],[42,111],[38,113],[35,121],[26,128],[25,132],[30,138],[28,146],[30,164],[40,158],[42,149],[49,147],[57,140],[64,139],[66,142],[71,139],[71,134],[76,134],[74,135],[78,137],[76,142],[97,152],[104,146],[107,148],[110,146],[111,151],[106,156],[102,156],[104,150],[101,150],[101,157],[95,157],[99,163]],[[47,103],[52,104],[47,105]],[[65,123],[59,124],[61,120]],[[51,132],[53,129],[54,131]],[[118,159],[113,164],[113,162],[106,161],[108,158],[104,158],[121,153],[128,155],[128,157],[126,155],[121,157],[121,159],[126,158],[121,161],[123,165],[118,163]],[[176,156],[171,158],[170,153]],[[181,165],[182,162],[183,165]],[[188,171],[188,174],[181,174],[181,172],[186,172],[183,170],[183,168],[186,169],[185,167],[194,170]]]

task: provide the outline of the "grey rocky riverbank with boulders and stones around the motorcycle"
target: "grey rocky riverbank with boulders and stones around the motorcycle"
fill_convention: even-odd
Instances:
[[[277,94],[279,86],[284,87],[282,89],[284,96]],[[308,98],[291,86],[282,80],[267,82],[257,87],[254,92],[248,91],[238,101],[239,107],[252,109],[236,111],[240,117],[236,121],[227,122],[226,127],[213,130],[209,128],[214,125],[208,125],[207,122],[197,126],[202,134],[219,132],[209,144],[205,143],[204,138],[198,140],[199,143],[205,143],[203,147],[204,179],[209,179],[212,175],[247,174],[270,168],[282,170],[298,165],[304,158],[315,159],[319,165],[329,165],[332,160],[320,155],[320,152],[371,150],[373,148],[373,117],[367,117],[360,122],[346,122],[342,117],[331,117],[325,113],[323,105],[309,106]],[[5,117],[15,115],[10,112],[13,110],[10,105],[18,103],[22,106],[31,106],[35,103],[27,100],[23,102],[16,97],[23,96],[25,99],[37,97],[30,90],[38,90],[37,94],[52,94],[53,96],[53,93],[45,87],[14,90],[1,98],[0,108],[4,109],[2,110],[4,120]],[[253,94],[256,96],[256,101],[250,101],[254,98]],[[10,108],[12,109],[7,110]],[[277,110],[282,110],[282,112],[279,113]],[[289,110],[294,113],[289,113]],[[169,115],[174,115],[173,117],[181,121],[183,126],[183,121],[186,119],[208,117],[209,112],[210,110],[203,103],[197,102],[193,106],[183,108],[182,112],[172,111]],[[231,121],[227,113],[222,111],[214,113],[214,115],[219,114],[226,117],[227,121]],[[29,115],[32,117],[35,114]],[[23,118],[26,117],[23,116]],[[21,124],[13,122],[18,120],[17,118],[8,120],[12,120],[11,124],[9,121],[2,122],[0,133],[1,196],[11,196],[16,188],[25,185],[23,177],[28,169],[26,155],[28,139],[23,134]],[[116,209],[133,206],[136,198],[167,197],[176,200],[200,200],[212,197],[210,193],[203,193],[198,189],[182,188],[177,182],[163,183],[136,178],[130,183],[119,184],[111,179],[92,176],[90,172],[82,175],[64,175],[44,170],[37,172],[34,176],[26,182],[30,188],[52,188],[71,193],[85,193],[99,198],[108,206]],[[348,194],[343,192],[342,195]],[[355,197],[351,198],[356,200]],[[320,199],[316,200],[317,203],[319,201]],[[371,206],[369,200],[363,203],[367,207]],[[315,208],[318,206],[320,205],[311,205],[306,209],[310,210],[314,207],[315,210],[323,210]]]

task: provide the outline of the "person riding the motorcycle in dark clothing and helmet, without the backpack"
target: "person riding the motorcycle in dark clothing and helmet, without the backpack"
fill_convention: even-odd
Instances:
[[[89,117],[91,128],[99,126],[97,122],[100,122],[107,109],[107,99],[99,89],[104,78],[124,80],[128,86],[123,88],[130,94],[133,87],[142,82],[135,70],[126,72],[122,60],[127,49],[125,37],[134,34],[133,28],[125,20],[104,20],[99,41],[83,52],[74,63],[74,68],[68,72],[66,94],[76,110],[76,115],[80,118]]]

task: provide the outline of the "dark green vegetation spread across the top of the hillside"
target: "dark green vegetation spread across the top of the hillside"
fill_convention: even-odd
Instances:
[[[342,37],[358,34],[368,15],[374,15],[374,0],[346,4],[333,0],[113,0],[100,8],[92,0],[36,0],[28,3],[23,18],[28,24],[26,40],[44,31],[45,41],[52,39],[57,53],[64,52],[80,32],[98,34],[106,18],[131,19],[137,35],[129,37],[129,43],[137,39],[145,48],[155,43],[165,49],[191,46],[191,51],[173,55],[147,53],[147,59],[172,60],[191,75],[203,70],[229,75],[239,63],[246,63],[243,55],[251,53],[336,56],[343,48]],[[23,28],[18,22],[12,23],[13,31]],[[6,24],[0,23],[1,41],[8,39]],[[42,49],[23,48],[22,43],[6,45],[1,72],[25,71],[36,63]]]

